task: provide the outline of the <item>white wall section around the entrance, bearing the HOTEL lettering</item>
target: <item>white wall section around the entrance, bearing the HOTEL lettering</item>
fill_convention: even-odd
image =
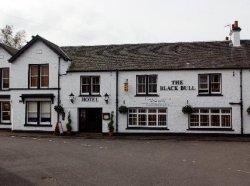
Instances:
[[[98,102],[83,102],[80,95],[80,77],[81,76],[100,76],[100,95],[98,97]],[[72,118],[72,127],[73,131],[78,131],[78,108],[102,108],[103,113],[111,113],[114,111],[114,120],[115,120],[115,95],[116,95],[116,84],[115,84],[116,74],[115,72],[88,72],[88,73],[69,73],[66,76],[62,77],[62,91],[61,91],[61,100],[62,105],[66,111],[66,118],[68,112],[70,111]],[[72,104],[69,100],[69,95],[73,93],[75,95],[75,102]],[[104,94],[109,94],[110,99],[107,104],[104,101]],[[87,96],[86,96],[87,97]],[[102,121],[103,132],[108,132],[107,124],[109,121]],[[64,128],[67,123],[67,119],[63,122]]]

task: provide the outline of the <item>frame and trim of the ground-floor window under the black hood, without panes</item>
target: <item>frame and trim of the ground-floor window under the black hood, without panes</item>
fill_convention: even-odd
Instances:
[[[29,123],[28,122],[28,102],[36,102],[37,103],[37,124]],[[40,121],[40,104],[41,102],[50,102],[50,122],[48,124],[41,124]],[[52,109],[52,102],[51,100],[27,100],[25,101],[25,124],[24,126],[30,126],[30,127],[52,127],[51,122],[52,122],[52,114],[51,114],[51,109]]]

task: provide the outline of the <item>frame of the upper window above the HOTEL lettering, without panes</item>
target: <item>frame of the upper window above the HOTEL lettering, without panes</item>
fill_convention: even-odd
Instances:
[[[88,86],[88,92],[83,92],[83,90],[82,90],[83,78],[89,78],[89,84],[84,84],[84,85]],[[93,83],[93,78],[99,78],[99,92],[93,92],[93,86],[98,86],[98,84]],[[101,77],[99,75],[80,76],[80,95],[82,95],[82,96],[100,96],[100,92],[101,92]]]

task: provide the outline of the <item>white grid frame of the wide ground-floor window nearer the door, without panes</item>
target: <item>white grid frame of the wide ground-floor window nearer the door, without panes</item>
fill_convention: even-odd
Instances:
[[[145,112],[141,113],[139,110],[145,110]],[[166,110],[166,112],[159,112],[160,109]],[[130,112],[130,110],[134,110],[135,112]],[[155,113],[150,113],[149,110],[156,110]],[[130,115],[133,115],[133,117],[130,117]],[[136,116],[134,116],[136,115]],[[139,115],[146,115],[146,125],[139,125]],[[149,125],[149,115],[156,115],[156,125]],[[160,115],[166,116],[166,124],[165,125],[159,125],[158,118]],[[167,128],[168,124],[168,109],[167,108],[134,108],[131,107],[128,109],[128,127],[129,128]],[[129,122],[130,118],[136,118],[136,125],[131,125]]]

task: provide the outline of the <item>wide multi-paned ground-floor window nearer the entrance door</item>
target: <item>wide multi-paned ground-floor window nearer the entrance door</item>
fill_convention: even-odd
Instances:
[[[167,127],[166,108],[130,108],[129,127]]]

